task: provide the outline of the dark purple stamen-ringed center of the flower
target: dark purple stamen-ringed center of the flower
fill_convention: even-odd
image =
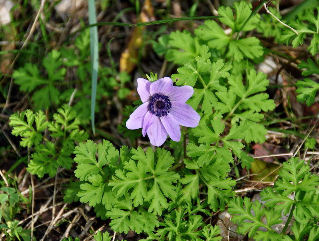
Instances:
[[[172,108],[172,103],[168,99],[168,96],[163,94],[154,94],[148,108],[152,114],[155,114],[158,117],[167,116],[169,109]]]

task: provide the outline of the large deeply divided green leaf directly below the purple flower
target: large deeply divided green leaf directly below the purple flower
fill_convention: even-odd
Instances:
[[[160,148],[157,149],[156,156],[151,147],[147,149],[146,155],[140,147],[137,150],[132,149],[131,153],[133,160],[124,162],[123,170],[117,169],[116,177],[112,177],[113,180],[108,185],[113,186],[112,191],[119,197],[130,193],[135,207],[150,201],[149,212],[154,211],[160,215],[162,207],[168,207],[166,198],[176,198],[172,183],[176,183],[180,176],[175,172],[168,172],[174,158]],[[157,158],[155,166],[154,158]]]

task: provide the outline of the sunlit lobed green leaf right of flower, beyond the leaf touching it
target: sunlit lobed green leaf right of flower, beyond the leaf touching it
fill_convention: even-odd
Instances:
[[[263,125],[256,123],[263,118],[263,115],[257,112],[275,108],[275,103],[268,99],[268,94],[259,93],[265,91],[269,85],[269,80],[266,77],[262,72],[257,73],[255,70],[251,70],[247,75],[246,86],[244,86],[241,77],[231,75],[228,78],[230,84],[228,92],[219,91],[216,93],[220,100],[217,102],[216,110],[219,110],[222,114],[232,113],[232,124],[238,122],[238,120],[247,121],[245,125],[249,128],[246,130],[246,136],[244,137],[247,142],[252,140],[255,142],[265,141],[267,130]],[[243,111],[243,109],[248,110]]]

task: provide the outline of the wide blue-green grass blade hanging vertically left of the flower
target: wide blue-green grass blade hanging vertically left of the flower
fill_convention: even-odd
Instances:
[[[94,0],[88,0],[89,8],[89,24],[96,24],[96,12]],[[91,47],[91,69],[92,69],[92,90],[91,90],[91,123],[92,131],[95,134],[94,126],[94,110],[95,110],[95,99],[96,99],[96,87],[98,79],[98,66],[99,66],[99,49],[98,49],[98,27],[90,27],[90,47]]]

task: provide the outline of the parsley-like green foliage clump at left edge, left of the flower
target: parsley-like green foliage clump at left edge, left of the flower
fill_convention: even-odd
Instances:
[[[53,115],[53,121],[46,121],[41,110],[35,114],[26,110],[10,117],[12,134],[22,138],[20,145],[29,148],[34,146],[27,171],[38,177],[43,177],[44,174],[54,177],[58,167],[70,169],[74,142],[88,138],[86,132],[79,130],[80,121],[71,107],[63,105],[57,111],[58,113]],[[50,135],[44,135],[46,129]]]

